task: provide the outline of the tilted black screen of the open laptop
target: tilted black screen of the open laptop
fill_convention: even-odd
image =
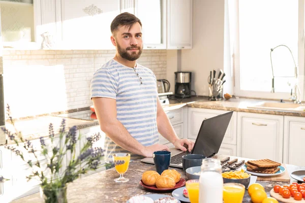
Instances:
[[[233,111],[202,121],[192,154],[206,157],[217,154],[225,137]]]

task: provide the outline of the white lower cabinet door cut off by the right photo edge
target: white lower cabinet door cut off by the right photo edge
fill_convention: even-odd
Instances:
[[[305,118],[284,116],[284,163],[305,166]]]

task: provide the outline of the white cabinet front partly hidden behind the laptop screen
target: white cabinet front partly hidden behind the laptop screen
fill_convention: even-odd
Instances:
[[[200,108],[189,108],[189,133],[188,138],[195,139],[198,136],[202,121],[207,118],[215,117],[228,111],[210,110]],[[222,143],[236,145],[236,112],[233,112],[231,121],[228,125],[224,140]]]

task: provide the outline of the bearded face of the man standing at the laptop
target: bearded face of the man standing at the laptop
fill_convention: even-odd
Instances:
[[[122,58],[137,60],[142,53],[142,28],[137,22],[131,27],[120,26],[115,33],[116,50]]]

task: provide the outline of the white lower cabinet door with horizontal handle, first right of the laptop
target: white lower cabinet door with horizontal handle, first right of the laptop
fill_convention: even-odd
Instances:
[[[237,112],[237,156],[282,162],[283,123],[283,116]]]

